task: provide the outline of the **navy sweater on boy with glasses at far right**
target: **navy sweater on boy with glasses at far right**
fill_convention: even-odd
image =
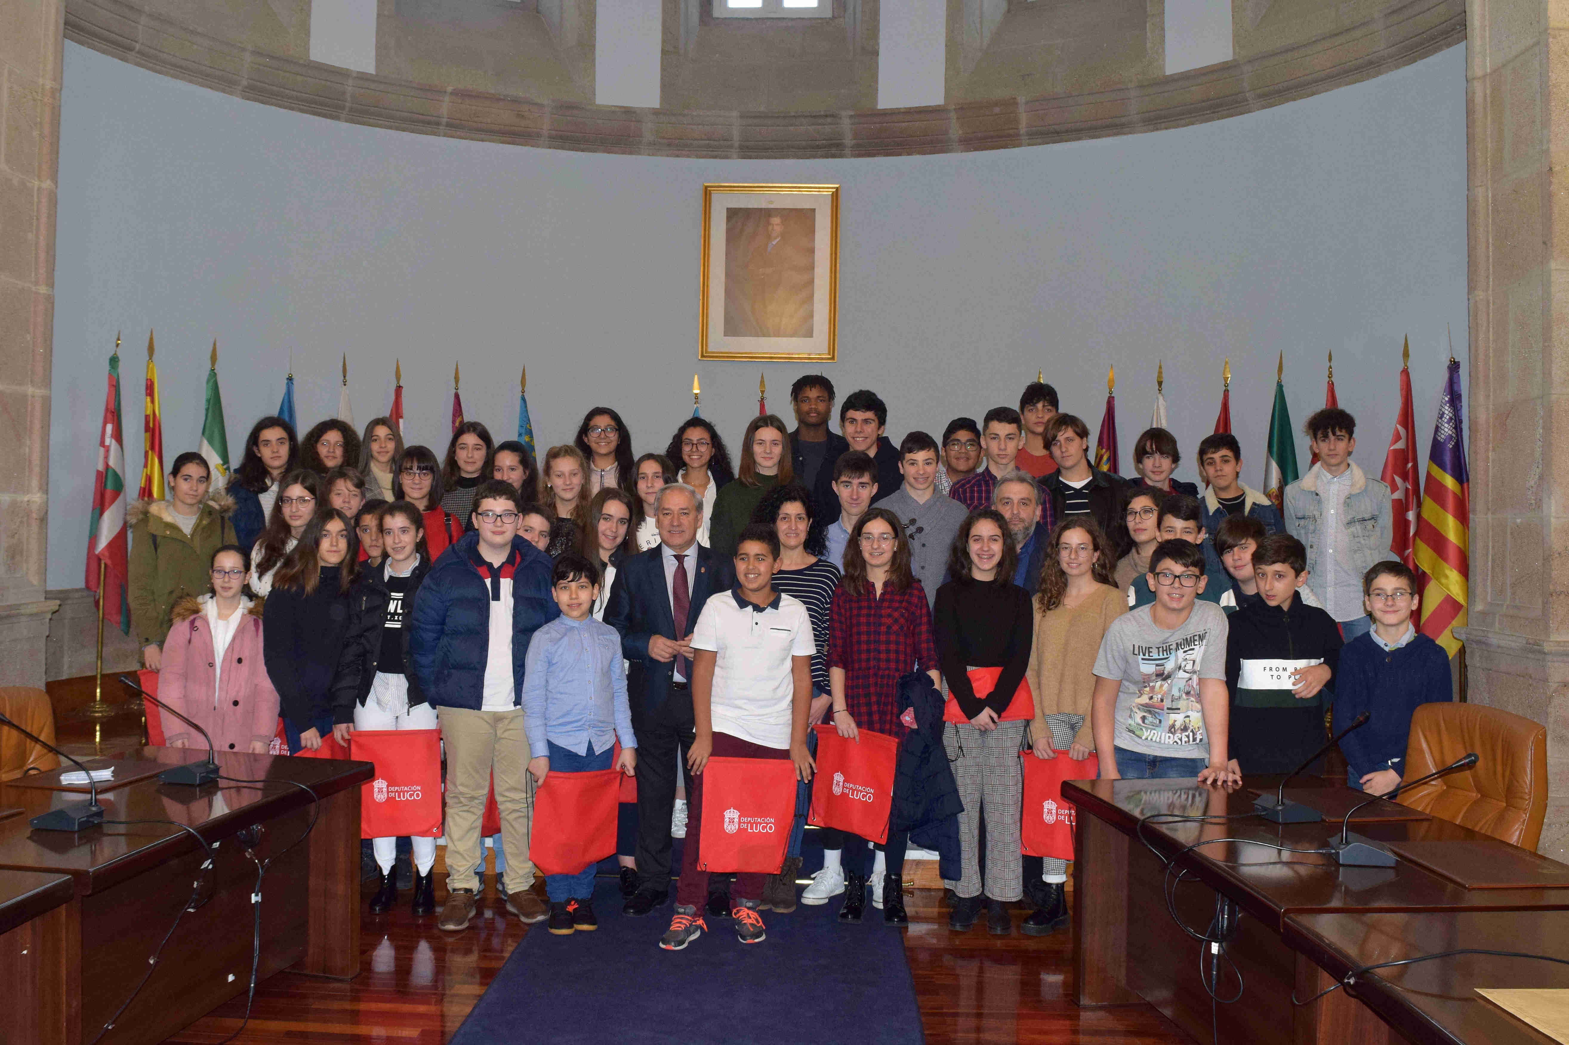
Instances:
[[[1331,730],[1338,733],[1368,713],[1367,725],[1340,741],[1340,754],[1352,776],[1365,777],[1378,769],[1406,776],[1411,716],[1422,703],[1453,699],[1450,655],[1426,635],[1417,635],[1398,650],[1385,650],[1371,635],[1346,642],[1340,650]]]

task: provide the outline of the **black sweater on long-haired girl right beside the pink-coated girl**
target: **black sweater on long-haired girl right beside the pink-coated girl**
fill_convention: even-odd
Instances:
[[[337,566],[323,566],[315,591],[273,588],[262,606],[262,655],[278,707],[304,732],[319,719],[353,722],[353,707],[333,707],[333,675],[348,631],[347,592],[337,591]]]

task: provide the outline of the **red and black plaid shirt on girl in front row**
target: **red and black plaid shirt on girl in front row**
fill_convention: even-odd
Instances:
[[[921,581],[882,597],[852,595],[841,583],[828,608],[828,667],[844,669],[844,703],[857,729],[902,738],[899,677],[938,671],[932,611]]]

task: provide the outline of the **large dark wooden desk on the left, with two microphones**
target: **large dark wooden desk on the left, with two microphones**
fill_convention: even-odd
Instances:
[[[202,758],[191,749],[146,747],[137,757],[169,763]],[[104,1042],[160,1042],[217,1004],[243,993],[251,973],[251,895],[256,863],[276,857],[262,882],[259,978],[284,968],[334,978],[359,971],[359,786],[364,761],[325,761],[218,752],[223,776],[264,783],[218,782],[201,788],[141,780],[99,794],[105,823],[80,835],[31,830],[27,818],[80,794],[0,788],[0,805],[25,816],[0,821],[0,868],[69,876],[66,978],[72,984],[60,1040],[91,1042],[132,996],[147,959],[180,917],[163,956]],[[312,788],[320,813],[309,840],[312,801],[287,782]],[[169,823],[174,821],[174,823]],[[202,870],[195,829],[213,846]],[[0,990],[11,984],[0,982]],[[5,1006],[0,1006],[3,1011]]]

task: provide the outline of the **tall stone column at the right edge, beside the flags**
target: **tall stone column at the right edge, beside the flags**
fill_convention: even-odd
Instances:
[[[1465,24],[1470,699],[1547,725],[1550,797],[1541,849],[1563,859],[1569,196],[1555,174],[1563,172],[1558,160],[1569,160],[1569,3],[1467,0]]]

